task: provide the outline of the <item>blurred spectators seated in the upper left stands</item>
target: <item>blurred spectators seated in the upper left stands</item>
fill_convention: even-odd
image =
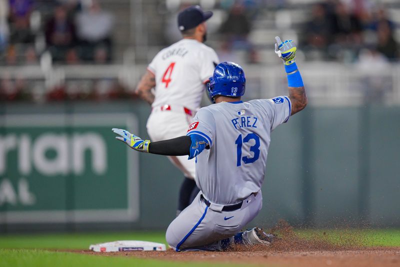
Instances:
[[[97,0],[0,0],[0,64],[109,62],[113,20]]]

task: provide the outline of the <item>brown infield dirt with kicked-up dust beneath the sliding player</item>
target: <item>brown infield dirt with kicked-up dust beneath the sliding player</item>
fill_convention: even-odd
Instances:
[[[108,253],[90,250],[74,250],[74,252],[185,262],[219,261],[268,266],[400,266],[400,247],[365,247],[362,245],[366,241],[363,235],[354,231],[338,237],[323,233],[304,239],[295,234],[284,221],[280,221],[270,231],[279,237],[270,246],[235,246],[225,252],[175,252],[172,249]]]

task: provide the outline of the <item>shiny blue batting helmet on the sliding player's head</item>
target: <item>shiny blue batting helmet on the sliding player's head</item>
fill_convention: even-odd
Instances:
[[[241,66],[233,62],[219,63],[207,83],[208,97],[215,103],[215,95],[242,96],[245,84],[246,78]]]

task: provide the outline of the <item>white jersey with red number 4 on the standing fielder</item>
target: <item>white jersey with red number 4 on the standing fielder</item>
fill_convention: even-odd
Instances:
[[[184,103],[184,107],[197,110],[205,88],[203,82],[214,71],[213,62],[219,62],[215,51],[194,39],[182,39],[159,51],[148,65],[155,75],[151,106]]]

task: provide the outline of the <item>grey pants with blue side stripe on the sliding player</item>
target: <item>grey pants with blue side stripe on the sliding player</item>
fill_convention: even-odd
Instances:
[[[176,251],[224,249],[235,241],[230,237],[252,220],[262,206],[262,196],[258,193],[246,199],[248,202],[238,210],[216,211],[200,199],[200,193],[168,226],[166,240]]]

